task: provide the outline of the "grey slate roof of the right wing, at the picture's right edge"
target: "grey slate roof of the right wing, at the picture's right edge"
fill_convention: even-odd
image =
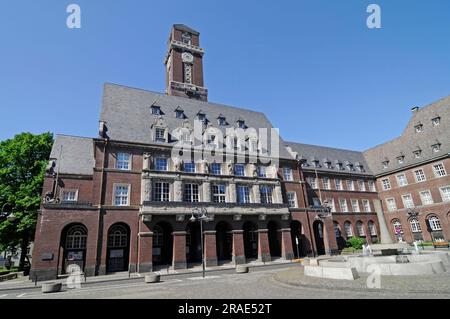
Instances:
[[[434,126],[432,120],[440,117],[440,124]],[[422,132],[416,132],[416,126],[422,125]],[[432,145],[440,144],[440,151],[433,152]],[[416,158],[414,151],[421,150],[421,157]],[[450,153],[450,96],[435,103],[419,108],[413,113],[402,135],[364,152],[370,169],[376,175],[402,169],[411,165],[441,157]],[[403,163],[398,157],[404,156]],[[382,162],[389,161],[383,168]]]

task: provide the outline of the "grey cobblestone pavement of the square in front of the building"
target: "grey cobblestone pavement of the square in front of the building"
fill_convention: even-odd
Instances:
[[[157,284],[142,280],[102,283],[55,294],[40,290],[1,292],[0,299],[450,299],[450,273],[420,278],[382,278],[382,289],[369,290],[365,277],[355,281],[305,277],[303,267],[279,268],[248,274],[208,274],[166,278]],[[434,285],[434,286],[433,286]]]

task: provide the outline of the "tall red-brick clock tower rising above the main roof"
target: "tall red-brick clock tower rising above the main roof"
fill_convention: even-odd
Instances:
[[[208,100],[208,90],[203,86],[203,54],[200,33],[174,24],[170,31],[166,66],[166,94],[202,101]]]

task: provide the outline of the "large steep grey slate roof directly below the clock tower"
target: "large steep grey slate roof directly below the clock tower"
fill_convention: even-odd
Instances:
[[[223,136],[226,135],[227,128],[236,127],[239,119],[245,121],[246,127],[255,128],[257,131],[259,128],[268,129],[269,138],[270,129],[273,128],[267,117],[261,112],[110,83],[106,83],[104,87],[100,121],[106,122],[107,134],[111,140],[155,144],[152,138],[152,124],[160,116],[152,114],[150,110],[152,105],[160,107],[161,119],[167,125],[169,132],[181,127],[185,121],[194,127],[194,119],[197,118],[200,111],[205,114],[210,125],[220,130]],[[178,108],[183,109],[185,119],[176,118],[175,110]],[[228,125],[218,125],[219,115],[226,118]],[[174,143],[176,143],[176,139],[162,144],[173,145]],[[291,158],[283,145],[284,142],[280,138],[280,157]]]

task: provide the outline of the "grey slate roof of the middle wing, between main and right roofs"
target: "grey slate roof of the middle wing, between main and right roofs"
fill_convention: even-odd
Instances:
[[[291,150],[294,157],[295,155],[298,155],[298,158],[306,160],[306,163],[303,166],[304,169],[315,169],[313,161],[317,160],[319,161],[317,171],[373,175],[362,152],[294,142],[287,142],[286,146]],[[325,165],[326,162],[330,162],[330,168]],[[342,169],[338,168],[337,163],[342,164]],[[352,164],[353,169],[347,167],[348,164]],[[358,165],[362,165],[363,171],[358,170]]]

